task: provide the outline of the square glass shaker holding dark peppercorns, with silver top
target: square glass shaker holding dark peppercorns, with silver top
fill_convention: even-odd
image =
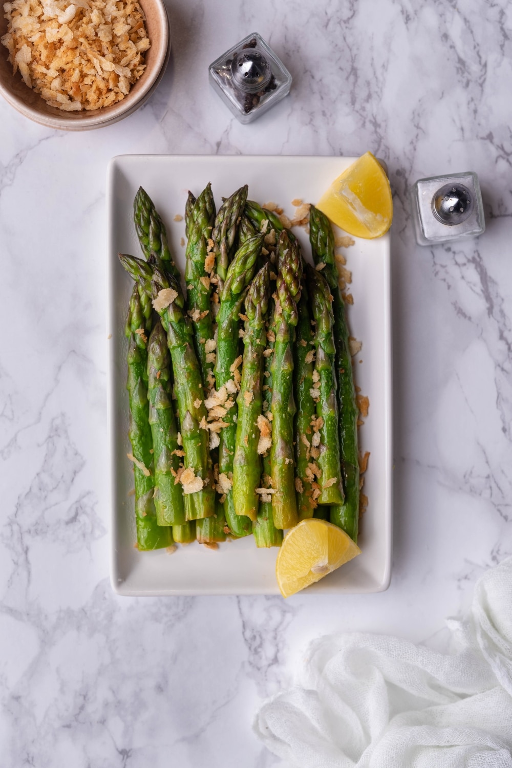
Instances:
[[[213,89],[241,123],[259,118],[292,84],[292,75],[257,32],[213,61],[208,71]]]

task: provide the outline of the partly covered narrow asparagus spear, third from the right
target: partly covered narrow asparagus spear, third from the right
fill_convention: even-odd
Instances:
[[[297,508],[299,520],[305,520],[312,518],[315,510],[315,501],[312,498],[311,472],[308,472],[308,465],[311,461],[311,424],[312,419],[316,417],[316,405],[311,396],[313,369],[315,367],[313,362],[315,350],[311,342],[315,334],[312,331],[309,296],[304,280],[302,280],[302,293],[297,310],[299,322],[297,323],[296,345],[293,350],[293,391],[297,412],[293,435],[296,455]]]

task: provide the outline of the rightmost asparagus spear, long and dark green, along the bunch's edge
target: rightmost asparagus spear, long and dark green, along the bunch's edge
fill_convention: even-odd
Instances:
[[[339,445],[342,459],[345,502],[333,507],[331,522],[357,541],[359,521],[359,462],[358,462],[358,408],[355,401],[352,356],[348,346],[348,326],[345,305],[338,287],[338,270],[334,257],[334,237],[327,217],[314,206],[309,209],[309,240],[315,263],[324,263],[322,270],[329,283],[334,313],[336,345],[336,373],[338,376]]]

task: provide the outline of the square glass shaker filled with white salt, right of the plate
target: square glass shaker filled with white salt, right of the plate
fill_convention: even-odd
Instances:
[[[420,179],[411,191],[412,218],[418,245],[478,237],[485,230],[477,174]]]

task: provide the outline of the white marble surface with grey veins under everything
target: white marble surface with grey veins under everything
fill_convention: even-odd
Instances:
[[[510,6],[173,0],[169,70],[82,134],[0,104],[2,768],[273,766],[263,697],[320,633],[442,637],[512,554]],[[207,65],[258,30],[294,77],[238,124]],[[117,598],[108,581],[105,171],[121,153],[362,154],[388,162],[395,551],[384,594]],[[475,170],[487,231],[415,246],[419,177]],[[440,634],[441,633],[441,634]]]

